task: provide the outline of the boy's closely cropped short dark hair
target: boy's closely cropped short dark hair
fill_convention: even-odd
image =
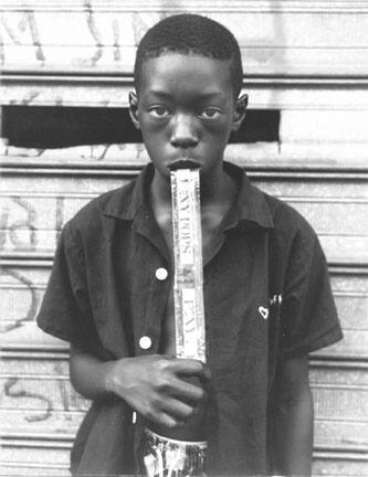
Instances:
[[[167,52],[231,60],[231,83],[235,98],[239,96],[243,82],[241,53],[234,35],[222,24],[199,14],[181,13],[168,17],[150,28],[136,53],[134,83],[137,93],[143,63]]]

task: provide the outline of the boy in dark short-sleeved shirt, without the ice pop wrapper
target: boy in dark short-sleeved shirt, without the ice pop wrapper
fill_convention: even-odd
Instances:
[[[242,77],[233,35],[200,15],[162,20],[139,44],[129,105],[151,163],[65,225],[38,318],[71,341],[72,383],[93,400],[74,474],[157,469],[172,449],[182,467],[161,474],[311,474],[307,353],[341,331],[314,231],[223,161]],[[200,168],[206,365],[175,357],[178,160]]]

